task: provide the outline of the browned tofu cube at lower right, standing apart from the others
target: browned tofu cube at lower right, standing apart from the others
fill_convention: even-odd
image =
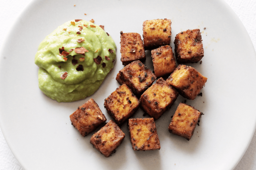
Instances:
[[[194,107],[180,103],[177,107],[172,121],[169,125],[169,132],[182,136],[189,140],[196,128],[197,122],[203,113]]]

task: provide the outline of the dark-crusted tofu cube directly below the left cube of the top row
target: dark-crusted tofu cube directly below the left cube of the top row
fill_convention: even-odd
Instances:
[[[126,84],[134,94],[140,96],[153,84],[156,76],[141,61],[136,60],[120,70],[116,80],[120,85]]]

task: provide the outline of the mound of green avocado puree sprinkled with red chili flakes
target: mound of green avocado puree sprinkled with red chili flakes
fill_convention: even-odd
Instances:
[[[78,43],[78,39],[84,41]],[[62,47],[69,52],[68,55],[60,54],[59,48]],[[88,50],[85,56],[75,52],[75,48],[80,47]],[[99,59],[98,56],[102,60],[94,60]],[[101,27],[85,20],[68,21],[46,36],[38,47],[35,64],[39,66],[39,88],[46,96],[58,102],[84,99],[100,87],[114,67],[115,58],[114,40]],[[83,71],[77,69],[81,65]],[[67,77],[63,79],[65,72]]]

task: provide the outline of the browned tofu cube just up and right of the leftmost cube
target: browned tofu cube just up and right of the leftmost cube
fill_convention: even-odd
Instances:
[[[126,84],[119,86],[104,102],[108,114],[115,119],[118,125],[131,117],[139,106],[139,100]]]

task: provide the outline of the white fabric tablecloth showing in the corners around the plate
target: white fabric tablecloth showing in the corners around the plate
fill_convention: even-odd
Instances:
[[[6,36],[10,21],[32,0],[0,0],[0,47]],[[256,50],[256,0],[225,0],[240,18],[250,35]],[[242,57],[242,56],[241,56]],[[0,170],[23,170],[10,151],[0,129]],[[256,170],[256,132],[250,146],[234,170]]]

